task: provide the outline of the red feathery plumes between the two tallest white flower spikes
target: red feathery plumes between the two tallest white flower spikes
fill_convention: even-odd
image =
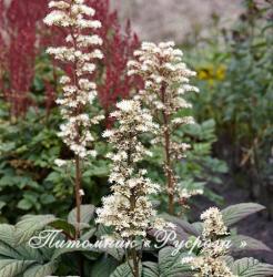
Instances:
[[[118,100],[128,98],[133,89],[141,86],[139,79],[127,75],[127,63],[140,43],[129,21],[122,33],[118,13],[110,11],[109,0],[88,2],[97,11],[97,19],[102,22],[98,34],[103,39],[104,66],[99,76],[99,99],[108,114]]]

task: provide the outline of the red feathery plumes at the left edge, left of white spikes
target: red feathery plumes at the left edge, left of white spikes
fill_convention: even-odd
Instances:
[[[39,43],[37,28],[44,16],[47,0],[12,0],[10,4],[1,2],[0,9],[0,49],[3,57],[1,68],[2,78],[8,79],[3,85],[4,98],[11,104],[11,114],[23,114],[31,101],[29,91],[34,75],[34,61]]]

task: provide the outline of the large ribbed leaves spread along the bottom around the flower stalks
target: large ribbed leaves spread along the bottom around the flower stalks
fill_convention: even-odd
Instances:
[[[83,205],[82,209],[82,232],[80,240],[88,239],[95,242],[101,238],[109,230],[103,226],[98,226],[94,229],[92,223],[94,207],[92,205]],[[254,213],[254,211],[261,209],[261,206],[256,206],[253,203],[243,203],[234,205],[222,211],[225,217],[243,219],[245,215]],[[228,212],[229,213],[228,213]],[[239,215],[239,216],[237,216]],[[243,215],[243,216],[242,216]],[[188,237],[182,239],[191,239],[194,242],[201,235],[202,224],[190,224],[183,219],[174,216],[169,216],[166,219],[175,223],[176,233],[183,232],[189,234]],[[84,274],[82,277],[128,277],[133,276],[131,273],[131,266],[128,260],[124,260],[125,256],[117,256],[113,252],[114,248],[98,249],[98,248],[55,248],[55,247],[42,247],[32,248],[28,245],[28,242],[34,235],[43,229],[62,229],[54,239],[71,239],[74,234],[74,211],[71,211],[68,220],[61,220],[53,215],[38,215],[38,216],[24,216],[16,226],[1,224],[0,225],[0,273],[1,276],[17,277],[19,276],[37,276],[44,277],[47,275],[77,275],[79,274],[79,264],[83,266]],[[234,220],[233,220],[234,223]],[[232,223],[232,224],[233,224]],[[196,229],[196,224],[201,224],[201,229]],[[72,230],[72,232],[71,232]],[[91,233],[90,233],[91,232]],[[261,242],[242,235],[225,236],[222,239],[231,239],[233,244],[246,240],[249,243],[247,249],[263,249],[270,250]],[[33,238],[31,238],[33,239]],[[172,240],[169,242],[172,245]],[[139,266],[141,277],[176,277],[176,276],[192,276],[193,270],[191,266],[181,263],[184,257],[194,257],[200,255],[200,249],[193,249],[192,254],[189,254],[189,249],[183,247],[178,250],[174,246],[165,246],[161,249],[148,248],[145,249],[146,259]],[[233,252],[234,249],[232,249]],[[231,253],[232,254],[232,253]],[[154,260],[156,257],[156,260]],[[150,259],[151,258],[151,259]],[[130,261],[131,263],[131,261]],[[271,265],[262,264],[253,258],[243,258],[235,260],[232,257],[226,257],[226,263],[231,270],[239,277],[259,277],[271,276],[273,267]]]

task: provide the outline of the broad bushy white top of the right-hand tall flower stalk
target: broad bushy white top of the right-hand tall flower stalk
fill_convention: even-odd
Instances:
[[[161,42],[158,45],[143,42],[134,52],[135,61],[129,61],[128,74],[139,74],[144,80],[144,90],[140,92],[151,110],[174,114],[181,107],[191,107],[183,95],[198,88],[189,84],[195,72],[189,70],[182,61],[182,51],[174,49],[174,42]],[[173,119],[173,124],[189,124],[192,117]]]

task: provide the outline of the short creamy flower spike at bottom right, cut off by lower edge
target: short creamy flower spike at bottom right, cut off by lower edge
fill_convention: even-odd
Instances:
[[[224,260],[228,249],[218,238],[229,234],[221,212],[216,207],[211,207],[201,215],[201,219],[204,220],[201,255],[183,261],[198,270],[195,277],[236,277]]]

